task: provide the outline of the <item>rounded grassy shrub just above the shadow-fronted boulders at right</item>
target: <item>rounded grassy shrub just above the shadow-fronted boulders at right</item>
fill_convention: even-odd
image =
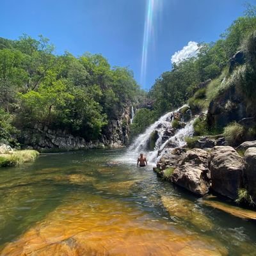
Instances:
[[[243,142],[245,133],[243,125],[233,122],[224,128],[223,135],[229,145],[236,146]]]

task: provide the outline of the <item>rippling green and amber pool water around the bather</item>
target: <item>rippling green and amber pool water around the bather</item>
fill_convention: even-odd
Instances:
[[[256,223],[207,207],[124,150],[0,171],[0,255],[256,255]],[[121,157],[122,158],[122,157]]]

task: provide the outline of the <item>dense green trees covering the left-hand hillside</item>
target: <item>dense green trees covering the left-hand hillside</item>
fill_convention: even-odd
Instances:
[[[111,68],[100,54],[76,58],[53,51],[43,36],[0,38],[0,115],[12,116],[19,129],[43,124],[88,140],[99,138],[109,120],[137,102],[141,90],[132,72]],[[1,131],[10,132],[4,127],[9,123],[1,121]]]

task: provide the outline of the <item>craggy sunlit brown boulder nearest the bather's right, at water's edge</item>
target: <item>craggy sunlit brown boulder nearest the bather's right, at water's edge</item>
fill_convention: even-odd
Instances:
[[[171,180],[197,195],[205,195],[210,188],[209,155],[205,150],[188,150],[175,168]]]

